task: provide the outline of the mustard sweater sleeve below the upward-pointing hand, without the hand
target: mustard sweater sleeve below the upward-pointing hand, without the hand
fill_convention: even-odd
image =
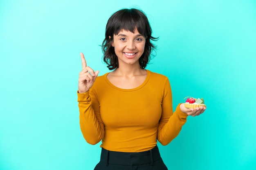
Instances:
[[[77,92],[77,96],[80,128],[83,137],[89,144],[97,144],[104,136],[104,124],[99,112],[99,102],[98,100],[92,101],[92,98],[96,98],[96,95],[91,90],[84,94]]]

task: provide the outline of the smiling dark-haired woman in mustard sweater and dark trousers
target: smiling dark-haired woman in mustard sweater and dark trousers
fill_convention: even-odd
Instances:
[[[171,86],[164,75],[145,70],[156,40],[146,15],[138,9],[114,13],[102,44],[109,70],[103,76],[87,66],[79,74],[80,126],[90,144],[102,141],[95,170],[166,170],[157,140],[167,145],[187,116],[206,107],[179,104],[173,113]]]

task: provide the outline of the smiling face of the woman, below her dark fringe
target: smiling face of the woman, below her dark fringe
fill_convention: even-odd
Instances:
[[[134,33],[121,30],[114,34],[112,46],[118,57],[119,67],[123,64],[138,64],[139,58],[144,52],[146,39],[137,29]]]

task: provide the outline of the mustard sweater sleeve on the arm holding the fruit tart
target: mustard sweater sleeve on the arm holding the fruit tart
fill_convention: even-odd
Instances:
[[[168,78],[164,83],[163,93],[162,116],[159,120],[157,140],[162,145],[167,145],[180,133],[188,115],[180,110],[180,104],[173,113],[171,85]]]

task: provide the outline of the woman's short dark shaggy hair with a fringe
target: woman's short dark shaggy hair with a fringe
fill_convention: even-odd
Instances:
[[[105,39],[102,43],[102,51],[104,53],[103,61],[108,65],[109,70],[114,70],[119,66],[115,49],[112,47],[114,34],[118,35],[121,30],[134,33],[136,29],[146,38],[144,53],[139,58],[140,67],[143,69],[146,68],[150,60],[150,54],[156,48],[150,40],[156,41],[158,38],[151,36],[152,29],[143,11],[139,9],[121,9],[108,19]]]

